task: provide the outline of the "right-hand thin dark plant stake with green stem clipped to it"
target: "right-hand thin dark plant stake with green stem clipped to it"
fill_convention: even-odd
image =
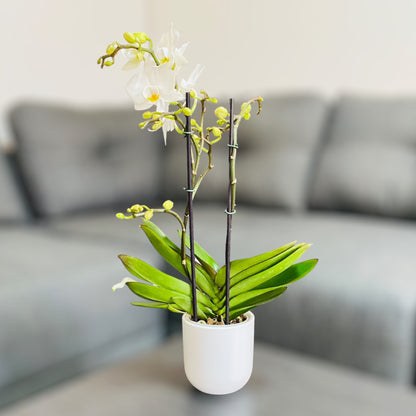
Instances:
[[[225,324],[230,323],[230,271],[231,271],[231,230],[232,218],[235,214],[235,196],[237,178],[235,176],[235,159],[237,156],[238,144],[234,135],[234,104],[230,98],[230,134],[228,142],[228,165],[229,165],[229,184],[228,184],[228,205],[227,210],[227,235],[225,242]]]

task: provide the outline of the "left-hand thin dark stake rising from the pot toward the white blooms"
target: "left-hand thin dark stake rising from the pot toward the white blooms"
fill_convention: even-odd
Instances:
[[[190,94],[186,93],[186,107],[190,107]],[[191,258],[191,283],[192,283],[192,319],[198,321],[198,309],[196,298],[196,278],[195,278],[195,248],[194,248],[194,210],[193,210],[193,184],[192,184],[192,152],[191,152],[191,118],[185,116],[185,138],[186,138],[186,161],[187,161],[187,197],[188,197],[188,214],[189,214],[189,250]]]

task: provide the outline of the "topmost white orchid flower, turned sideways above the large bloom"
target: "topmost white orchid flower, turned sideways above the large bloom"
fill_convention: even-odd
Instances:
[[[173,24],[169,32],[164,33],[160,39],[158,48],[156,48],[156,55],[162,64],[168,64],[170,69],[179,70],[188,63],[184,57],[185,50],[189,42],[184,43],[180,47],[176,47],[179,41],[179,32],[174,29]]]

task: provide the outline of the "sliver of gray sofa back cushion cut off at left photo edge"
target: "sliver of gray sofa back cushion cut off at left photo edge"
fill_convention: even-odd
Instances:
[[[13,176],[10,154],[0,151],[0,223],[18,222],[25,219],[26,212],[18,183]]]

